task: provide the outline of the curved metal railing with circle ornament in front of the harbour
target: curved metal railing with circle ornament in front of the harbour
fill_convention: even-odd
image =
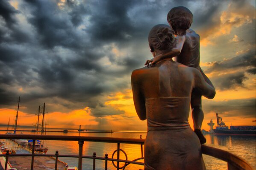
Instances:
[[[0,156],[6,157],[5,170],[7,169],[8,158],[10,156],[31,156],[31,170],[34,168],[34,157],[37,156],[52,156],[55,157],[55,170],[58,168],[58,158],[59,157],[70,157],[78,158],[78,170],[82,170],[82,159],[93,159],[93,170],[95,170],[95,160],[105,161],[105,170],[108,169],[108,161],[112,161],[113,166],[117,169],[125,169],[129,164],[138,164],[144,165],[143,162],[138,162],[143,157],[143,144],[144,139],[125,139],[125,138],[111,138],[111,137],[93,137],[93,136],[53,136],[53,135],[0,135],[0,139],[32,139],[33,147],[32,154],[0,154]],[[35,141],[39,140],[59,140],[59,141],[78,141],[79,151],[78,155],[60,155],[58,151],[55,154],[35,154]],[[93,153],[92,156],[82,155],[83,144],[84,142],[106,142],[106,143],[117,143],[117,150],[112,153],[112,158],[108,157],[108,154],[105,154],[104,157],[96,156],[96,153]],[[124,150],[120,149],[120,144],[139,144],[141,145],[141,157],[134,159],[132,161],[127,160],[127,154]],[[123,152],[126,156],[126,160],[120,159],[120,152]],[[117,153],[117,159],[114,159],[114,154]],[[213,156],[215,158],[221,159],[227,162],[228,170],[253,170],[253,168],[246,161],[241,159],[234,154],[227,152],[225,150],[217,149],[214,147],[209,147],[202,145],[202,153]],[[116,164],[115,164],[116,162]],[[120,162],[124,162],[124,165],[120,167]]]

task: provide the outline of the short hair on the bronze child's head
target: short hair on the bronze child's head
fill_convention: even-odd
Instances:
[[[193,22],[193,14],[188,8],[177,6],[168,12],[167,21],[174,30],[176,28],[188,29]]]

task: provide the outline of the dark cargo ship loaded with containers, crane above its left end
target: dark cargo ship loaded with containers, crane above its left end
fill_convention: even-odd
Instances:
[[[217,117],[217,126],[216,129],[213,129],[215,134],[228,134],[228,135],[256,135],[256,126],[228,126],[222,121],[222,118],[219,117],[218,113],[216,113]]]

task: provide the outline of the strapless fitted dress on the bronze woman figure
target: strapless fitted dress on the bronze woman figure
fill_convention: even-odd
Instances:
[[[146,99],[144,170],[205,170],[201,144],[188,124],[190,97]]]

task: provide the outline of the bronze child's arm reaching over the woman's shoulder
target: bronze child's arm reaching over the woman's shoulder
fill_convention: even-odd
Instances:
[[[160,55],[157,55],[153,59],[147,60],[145,65],[149,66],[150,63],[155,64],[156,62],[160,61],[161,59],[177,57],[183,48],[186,38],[184,35],[182,35],[182,36],[178,35],[176,37],[176,39],[177,39],[176,47],[169,49]]]

